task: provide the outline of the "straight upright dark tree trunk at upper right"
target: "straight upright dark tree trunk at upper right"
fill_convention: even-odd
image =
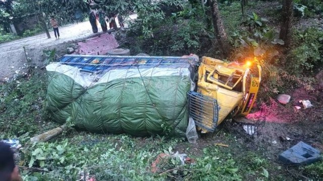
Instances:
[[[292,39],[293,0],[283,0],[282,22],[279,38],[284,40],[285,47],[289,48]]]

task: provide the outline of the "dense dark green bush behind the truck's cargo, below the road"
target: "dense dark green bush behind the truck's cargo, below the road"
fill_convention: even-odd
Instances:
[[[212,34],[199,17],[203,11],[199,8],[186,7],[183,11],[173,13],[163,21],[145,19],[133,24],[127,36],[133,38],[130,49],[134,53],[151,55],[184,55],[199,53],[203,46],[209,46]],[[153,21],[152,21],[153,20]],[[149,22],[149,23],[148,23]],[[148,27],[145,24],[148,23]]]

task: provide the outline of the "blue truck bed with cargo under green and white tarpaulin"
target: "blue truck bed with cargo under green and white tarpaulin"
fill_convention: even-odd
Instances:
[[[53,118],[91,132],[185,136],[197,56],[66,55],[46,66]]]

